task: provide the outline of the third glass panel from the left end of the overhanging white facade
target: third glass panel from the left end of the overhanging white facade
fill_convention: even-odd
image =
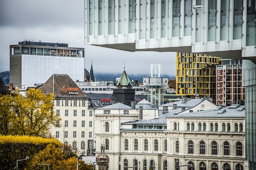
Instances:
[[[108,35],[115,34],[115,0],[108,0]]]

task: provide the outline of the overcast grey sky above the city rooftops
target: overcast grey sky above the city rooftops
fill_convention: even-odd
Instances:
[[[0,72],[9,70],[9,45],[23,40],[68,43],[85,48],[85,67],[94,73],[148,74],[161,64],[176,75],[176,53],[128,52],[84,45],[84,0],[0,0]]]

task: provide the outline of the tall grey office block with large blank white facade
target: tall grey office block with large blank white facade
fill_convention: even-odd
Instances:
[[[10,83],[14,86],[42,84],[52,74],[84,81],[84,48],[30,41],[10,45]]]

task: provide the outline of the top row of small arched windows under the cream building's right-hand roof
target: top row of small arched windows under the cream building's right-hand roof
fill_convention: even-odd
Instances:
[[[177,124],[176,122],[174,122],[174,130],[178,130],[179,129],[179,124]],[[187,123],[187,129],[186,130],[194,130],[195,129],[195,123],[192,122],[191,125],[188,122]],[[198,123],[198,131],[206,131],[206,123],[203,123],[203,127],[202,127],[202,123]],[[239,124],[239,129],[238,129],[238,123],[234,124],[234,132],[242,132],[243,131],[243,124],[240,123]],[[210,131],[218,131],[218,123],[210,123]],[[225,132],[230,132],[230,123],[222,123],[222,131]]]

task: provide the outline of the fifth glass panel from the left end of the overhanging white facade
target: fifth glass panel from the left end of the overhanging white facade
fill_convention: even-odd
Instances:
[[[129,34],[135,33],[136,0],[129,0]]]

